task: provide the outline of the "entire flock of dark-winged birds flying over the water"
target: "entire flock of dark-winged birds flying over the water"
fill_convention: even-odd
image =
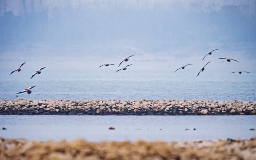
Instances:
[[[218,49],[220,49],[220,48],[218,48]],[[213,51],[216,51],[216,50],[218,50],[218,49],[214,49],[214,50],[212,50],[211,52],[207,53],[207,54],[204,56],[204,58],[205,58],[207,55],[211,55]],[[135,55],[132,55],[132,56],[135,56]],[[131,57],[131,56],[128,56],[127,58],[125,58],[125,59],[118,65],[118,67],[119,67],[123,62],[127,62],[130,57]],[[203,58],[203,60],[204,60],[204,58]],[[234,59],[230,59],[230,58],[218,58],[218,59],[226,59],[228,62],[231,62],[231,60],[234,60]],[[202,60],[202,61],[203,61],[203,60]],[[239,61],[237,61],[237,60],[234,60],[234,61],[239,62]],[[211,61],[210,61],[210,62],[211,62]],[[207,64],[209,64],[210,62],[208,62]],[[23,64],[21,64],[18,69],[12,71],[12,72],[10,73],[10,75],[11,75],[13,72],[15,72],[15,71],[20,72],[21,66],[23,66],[25,63],[26,63],[26,62],[24,62]],[[205,64],[204,67],[205,67],[207,64]],[[102,67],[102,66],[108,67],[109,65],[115,65],[115,64],[103,64],[103,65],[99,66],[99,68]],[[125,66],[124,68],[120,68],[120,69],[118,69],[116,72],[118,72],[118,71],[120,71],[120,70],[126,70],[127,67],[130,66],[130,65],[132,65],[132,64],[129,64],[129,65]],[[188,65],[192,65],[192,64],[186,64],[186,65],[184,65],[184,66],[178,68],[176,71],[178,71],[179,69],[184,69],[184,68],[185,68],[186,66],[188,66]],[[200,74],[200,72],[203,72],[203,71],[204,71],[204,67],[198,72],[197,76]],[[45,67],[44,67],[44,68],[45,68]],[[32,75],[32,77],[31,77],[30,79],[32,79],[36,74],[40,74],[40,73],[41,73],[41,70],[44,69],[44,68],[40,68],[38,71],[36,71],[36,72]],[[175,72],[176,72],[176,71],[175,71]],[[246,72],[246,71],[235,71],[235,72],[238,72],[239,74],[241,74],[242,72]],[[235,73],[235,72],[231,72],[231,73]],[[231,74],[231,73],[230,73],[230,74]],[[246,72],[246,73],[250,73],[250,72]],[[197,76],[196,76],[196,77],[197,77]],[[32,89],[32,88],[34,88],[34,87],[36,87],[36,86],[32,86],[32,87],[30,87],[30,88],[26,88],[26,89],[24,89],[23,91],[18,92],[17,94],[19,94],[19,93],[24,93],[24,92],[27,92],[28,94],[30,94],[30,93],[32,92],[30,89]]]

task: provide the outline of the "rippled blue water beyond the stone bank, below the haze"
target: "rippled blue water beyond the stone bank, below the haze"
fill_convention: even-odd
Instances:
[[[228,72],[50,72],[0,73],[0,99],[26,100],[243,100],[256,101],[256,74]],[[32,93],[16,94],[24,88]]]

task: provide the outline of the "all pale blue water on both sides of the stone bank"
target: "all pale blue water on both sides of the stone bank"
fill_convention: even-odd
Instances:
[[[45,70],[47,71],[47,70]],[[0,99],[36,85],[26,100],[243,100],[256,101],[256,75],[224,72],[0,73]],[[214,140],[251,138],[256,116],[0,116],[0,136],[30,140]],[[115,130],[109,130],[109,127]],[[196,128],[196,130],[193,130]],[[187,129],[187,130],[186,130]]]

